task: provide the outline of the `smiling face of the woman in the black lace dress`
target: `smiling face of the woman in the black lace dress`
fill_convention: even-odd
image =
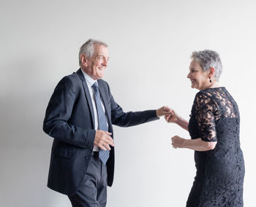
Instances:
[[[203,90],[208,87],[208,71],[204,72],[200,64],[194,59],[190,63],[187,78],[190,79],[192,88]]]

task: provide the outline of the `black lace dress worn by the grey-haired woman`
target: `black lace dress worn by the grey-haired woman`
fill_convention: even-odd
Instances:
[[[201,90],[189,120],[192,139],[217,141],[213,150],[195,151],[197,173],[187,207],[243,206],[244,157],[239,112],[225,87]]]

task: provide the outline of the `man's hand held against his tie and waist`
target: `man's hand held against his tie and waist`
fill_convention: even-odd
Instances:
[[[105,130],[96,130],[94,145],[103,150],[110,150],[110,145],[114,147],[113,138],[110,137],[111,133]]]

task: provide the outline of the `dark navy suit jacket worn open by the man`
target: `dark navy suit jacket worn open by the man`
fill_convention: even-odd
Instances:
[[[99,93],[108,117],[108,131],[113,125],[129,127],[157,120],[156,110],[123,112],[114,101],[108,83],[98,80]],[[53,137],[48,187],[73,195],[78,191],[94,147],[94,109],[81,69],[61,79],[50,98],[43,130]],[[113,183],[114,148],[107,162],[108,186]]]

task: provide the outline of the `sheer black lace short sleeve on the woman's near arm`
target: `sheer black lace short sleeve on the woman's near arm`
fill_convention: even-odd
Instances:
[[[199,92],[195,96],[195,119],[203,141],[217,141],[214,112],[216,106],[208,95]]]

